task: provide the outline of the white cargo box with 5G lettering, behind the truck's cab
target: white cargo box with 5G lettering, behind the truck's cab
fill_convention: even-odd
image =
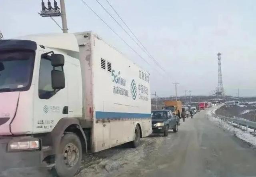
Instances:
[[[76,33],[83,85],[83,117],[92,123],[92,151],[152,132],[150,74],[92,32]]]

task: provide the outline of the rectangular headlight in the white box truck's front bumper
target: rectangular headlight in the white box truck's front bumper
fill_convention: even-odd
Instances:
[[[12,141],[8,145],[9,151],[18,151],[18,150],[35,150],[39,149],[39,140],[32,141]]]

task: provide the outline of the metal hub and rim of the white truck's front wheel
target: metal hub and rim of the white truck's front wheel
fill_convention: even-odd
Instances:
[[[79,159],[79,150],[73,143],[68,143],[63,149],[64,162],[67,166],[73,167]]]

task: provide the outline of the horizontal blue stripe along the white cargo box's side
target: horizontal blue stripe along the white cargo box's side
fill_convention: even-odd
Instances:
[[[145,119],[151,118],[151,114],[96,111],[95,117],[96,119]]]

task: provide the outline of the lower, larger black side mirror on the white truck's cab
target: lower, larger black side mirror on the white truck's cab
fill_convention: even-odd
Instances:
[[[52,70],[52,89],[65,88],[65,75],[63,71]]]

